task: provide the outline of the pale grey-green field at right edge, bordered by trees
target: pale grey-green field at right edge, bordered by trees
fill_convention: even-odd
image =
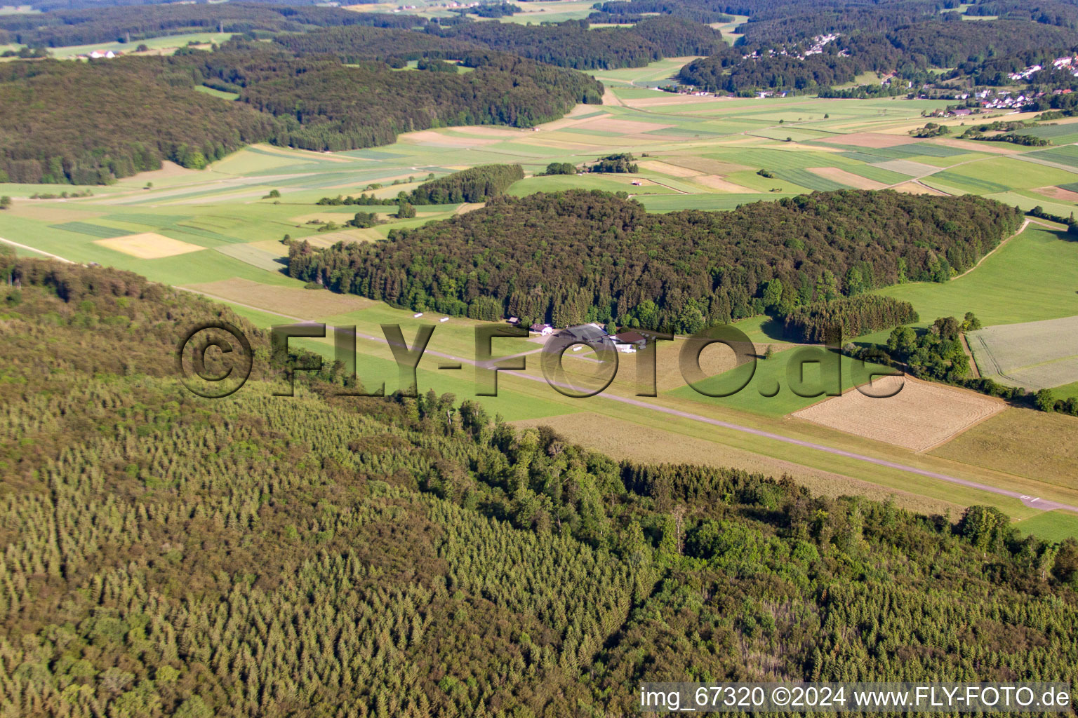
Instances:
[[[1078,381],[1078,316],[990,326],[966,338],[983,377],[1029,390]]]

